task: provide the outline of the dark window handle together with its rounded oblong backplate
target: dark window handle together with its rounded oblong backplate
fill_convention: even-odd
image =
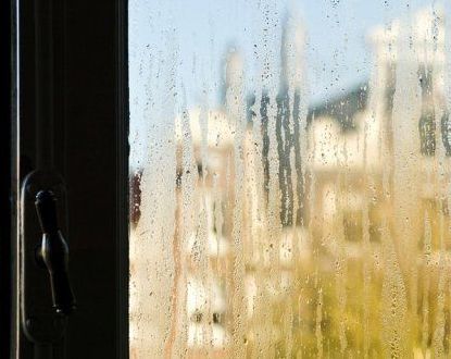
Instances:
[[[26,337],[58,345],[76,302],[68,275],[66,187],[53,171],[34,171],[23,182],[20,213],[18,300]]]

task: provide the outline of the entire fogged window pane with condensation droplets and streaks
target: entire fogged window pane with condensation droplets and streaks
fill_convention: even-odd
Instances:
[[[130,0],[131,358],[451,356],[449,7]]]

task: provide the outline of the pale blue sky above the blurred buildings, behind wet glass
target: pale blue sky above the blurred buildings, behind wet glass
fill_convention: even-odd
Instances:
[[[147,143],[143,134],[161,137],[175,115],[168,111],[172,97],[188,108],[205,101],[211,108],[218,104],[224,59],[230,48],[243,58],[247,92],[255,90],[262,75],[263,52],[270,54],[270,72],[276,78],[281,24],[287,14],[296,15],[305,34],[308,102],[315,104],[368,79],[372,51],[367,34],[372,28],[431,7],[438,8],[440,2],[130,0],[131,148],[142,151],[140,146]]]

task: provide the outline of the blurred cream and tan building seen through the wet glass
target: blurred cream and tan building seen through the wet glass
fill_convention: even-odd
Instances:
[[[442,259],[430,258],[451,260],[443,24],[440,12],[428,10],[375,28],[371,78],[306,111],[303,32],[287,21],[277,91],[243,94],[242,59],[230,51],[224,103],[176,119],[173,331],[185,333],[181,346],[191,357],[229,357],[242,348],[258,356],[275,350],[274,343],[284,352],[296,343],[285,343],[287,323],[287,332],[305,341],[290,350],[318,355],[321,331],[346,349],[343,318],[347,331],[362,331],[358,317],[368,299],[362,273],[373,271],[380,298],[381,272],[392,271],[384,264],[387,243],[401,277],[415,288],[422,273],[437,273],[434,263]],[[134,222],[141,174],[131,181]],[[340,281],[362,300],[341,308],[340,288],[330,289]],[[438,293],[437,278],[430,281],[430,293]],[[424,302],[422,294],[412,298],[414,307]],[[323,301],[330,306],[327,323]],[[302,320],[281,320],[290,306]],[[380,337],[366,341],[365,350],[380,354]]]

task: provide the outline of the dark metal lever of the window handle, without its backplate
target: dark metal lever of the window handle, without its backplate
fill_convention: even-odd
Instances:
[[[36,257],[49,272],[53,308],[57,313],[68,315],[76,301],[68,280],[68,247],[58,225],[57,198],[51,190],[41,190],[35,206],[42,230]]]

